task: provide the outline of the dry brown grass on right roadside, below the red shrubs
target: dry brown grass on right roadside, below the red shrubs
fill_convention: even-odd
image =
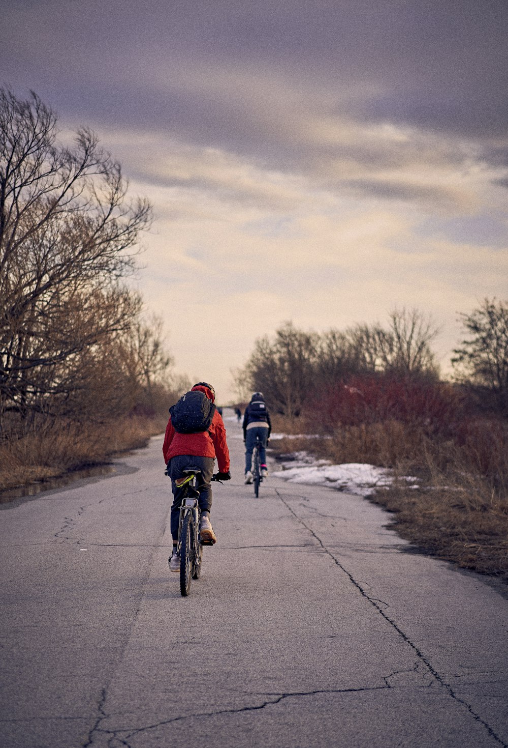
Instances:
[[[475,420],[466,429],[462,423],[455,440],[396,420],[341,426],[330,436],[270,447],[276,455],[306,450],[339,465],[367,462],[393,468],[395,476],[418,476],[420,488],[395,479],[371,500],[394,512],[394,529],[421,551],[508,581],[505,424]]]

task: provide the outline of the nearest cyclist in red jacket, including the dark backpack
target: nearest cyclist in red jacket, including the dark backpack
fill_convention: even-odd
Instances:
[[[193,412],[187,414],[185,407],[177,407],[184,398],[181,398],[176,405],[173,405],[170,408],[171,416],[167,423],[166,435],[164,436],[162,447],[164,461],[167,465],[167,475],[171,478],[171,488],[173,489],[173,506],[171,506],[173,553],[169,560],[171,571],[180,570],[180,559],[176,554],[176,546],[178,542],[180,504],[186,492],[186,488],[178,488],[175,481],[185,476],[183,471],[186,469],[196,468],[200,470],[200,473],[196,475],[196,488],[199,490],[199,509],[201,509],[199,535],[205,542],[213,544],[217,542],[217,537],[210,522],[210,481],[214,473],[215,458],[217,458],[219,468],[217,477],[220,480],[231,479],[231,473],[229,472],[229,450],[226,444],[226,429],[222,416],[214,405],[215,390],[211,384],[199,381],[197,384],[194,384],[190,392],[202,393],[201,396],[196,395],[190,398],[188,397],[190,393],[187,393],[185,396],[187,400],[185,407],[188,407],[187,404],[189,402],[196,402],[199,406],[197,415]],[[185,423],[186,418],[188,423]],[[194,425],[192,423],[193,419],[196,420]],[[176,426],[173,424],[176,424]],[[203,425],[205,429],[202,429]],[[194,430],[190,431],[189,429]]]

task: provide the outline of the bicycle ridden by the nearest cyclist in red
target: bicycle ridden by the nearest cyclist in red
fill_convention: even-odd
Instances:
[[[202,541],[199,537],[201,510],[199,509],[199,490],[196,488],[196,475],[201,470],[183,470],[187,475],[175,481],[179,488],[186,487],[185,497],[180,505],[180,520],[176,553],[180,557],[180,592],[187,597],[190,592],[190,580],[199,579],[202,567],[203,545],[213,545],[211,541]],[[212,480],[221,482],[215,475]]]

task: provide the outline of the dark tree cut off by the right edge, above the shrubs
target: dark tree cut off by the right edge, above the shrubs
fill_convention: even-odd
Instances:
[[[508,302],[485,298],[470,314],[461,314],[469,337],[453,351],[456,378],[486,390],[498,407],[508,409]]]

